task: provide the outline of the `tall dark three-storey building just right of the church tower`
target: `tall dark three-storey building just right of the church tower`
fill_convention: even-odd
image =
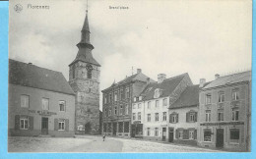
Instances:
[[[150,81],[154,80],[138,69],[136,75],[114,82],[102,90],[102,132],[108,135],[131,136],[132,99]]]

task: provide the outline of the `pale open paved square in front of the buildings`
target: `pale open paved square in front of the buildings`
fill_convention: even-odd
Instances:
[[[9,137],[9,152],[218,152],[206,148],[116,137]]]

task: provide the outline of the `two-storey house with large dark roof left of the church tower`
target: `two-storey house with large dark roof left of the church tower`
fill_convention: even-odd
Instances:
[[[73,136],[75,94],[62,73],[9,60],[9,135]]]

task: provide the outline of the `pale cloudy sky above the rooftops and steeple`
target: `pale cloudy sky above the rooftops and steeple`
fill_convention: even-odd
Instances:
[[[109,9],[118,6],[128,9]],[[86,9],[85,0],[10,1],[9,58],[68,80]],[[89,0],[88,10],[100,90],[137,69],[155,80],[188,73],[194,84],[251,69],[250,0]]]

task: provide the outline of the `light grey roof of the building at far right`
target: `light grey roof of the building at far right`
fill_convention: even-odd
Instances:
[[[251,80],[251,71],[242,72],[237,74],[232,74],[229,76],[220,77],[218,79],[213,80],[211,83],[206,85],[203,89],[208,89],[217,86],[223,86],[225,84],[232,84],[236,82],[242,81],[250,81]]]

